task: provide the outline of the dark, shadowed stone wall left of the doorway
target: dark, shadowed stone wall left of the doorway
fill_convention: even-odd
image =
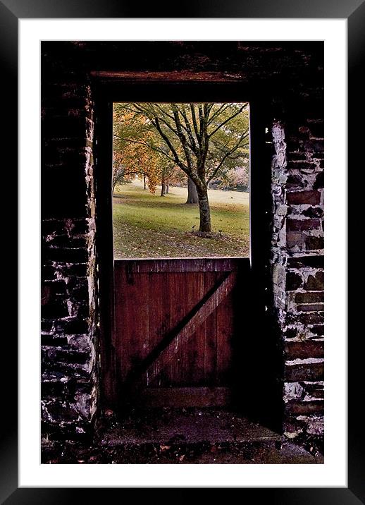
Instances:
[[[89,432],[97,407],[93,104],[88,85],[42,86],[42,432]]]

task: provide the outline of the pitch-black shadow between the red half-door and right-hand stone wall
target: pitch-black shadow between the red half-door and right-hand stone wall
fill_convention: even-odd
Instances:
[[[233,296],[232,407],[254,422],[281,432],[283,349],[272,296],[265,293],[266,299],[255,286],[251,271],[240,269]]]

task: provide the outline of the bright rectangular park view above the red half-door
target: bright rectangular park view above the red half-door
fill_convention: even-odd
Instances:
[[[115,259],[249,255],[249,104],[113,104]]]

